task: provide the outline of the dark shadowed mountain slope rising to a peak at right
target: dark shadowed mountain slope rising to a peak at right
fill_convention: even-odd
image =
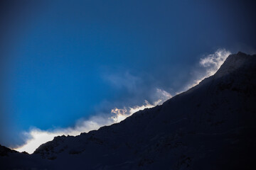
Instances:
[[[161,106],[77,137],[55,137],[31,155],[0,157],[0,164],[4,169],[255,169],[255,120],[256,55],[238,52],[215,75]]]

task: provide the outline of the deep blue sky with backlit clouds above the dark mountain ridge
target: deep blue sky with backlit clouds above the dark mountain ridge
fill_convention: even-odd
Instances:
[[[33,152],[55,135],[117,123],[194,86],[230,53],[255,54],[255,8],[1,1],[0,144]]]

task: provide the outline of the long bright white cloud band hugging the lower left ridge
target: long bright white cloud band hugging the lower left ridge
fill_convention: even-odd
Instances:
[[[36,148],[45,142],[53,140],[55,136],[59,135],[80,135],[81,132],[89,132],[90,130],[97,130],[104,125],[112,125],[113,123],[119,123],[133,113],[143,110],[144,108],[152,108],[171,98],[171,94],[162,90],[156,89],[156,101],[149,103],[144,101],[142,106],[131,106],[124,108],[113,108],[109,114],[100,114],[92,116],[87,120],[78,120],[74,128],[57,128],[55,130],[40,130],[38,128],[31,128],[29,132],[23,132],[26,136],[26,144],[20,147],[16,147],[18,152],[26,151],[33,153]]]

